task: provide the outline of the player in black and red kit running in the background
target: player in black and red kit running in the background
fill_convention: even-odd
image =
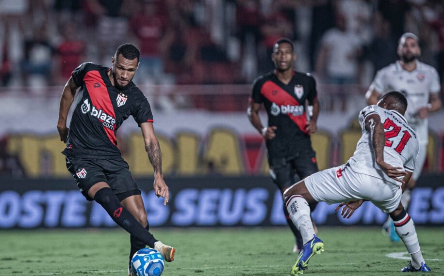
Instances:
[[[319,102],[314,77],[293,69],[296,54],[291,40],[280,38],[276,41],[272,60],[276,69],[254,81],[247,114],[251,124],[265,138],[270,175],[283,193],[289,186],[318,171],[310,134],[317,130]],[[306,102],[312,106],[310,118]],[[259,117],[262,105],[268,114],[265,127]],[[302,248],[302,238],[285,206],[283,211],[296,238],[293,248],[296,253]]]

